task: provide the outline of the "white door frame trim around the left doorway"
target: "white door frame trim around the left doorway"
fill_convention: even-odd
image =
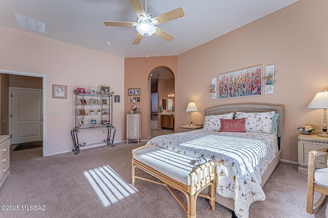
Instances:
[[[11,74],[11,75],[19,75],[19,76],[28,76],[28,77],[40,77],[42,78],[42,116],[43,116],[43,127],[42,127],[42,140],[43,140],[43,156],[47,156],[47,75],[45,74],[37,74],[35,72],[25,72],[25,71],[17,71],[10,69],[0,69],[0,73],[2,74]],[[10,115],[8,117],[10,120]],[[10,125],[10,124],[9,124]]]

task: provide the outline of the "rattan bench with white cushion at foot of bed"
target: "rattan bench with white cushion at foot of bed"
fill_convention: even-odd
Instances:
[[[215,211],[215,162],[210,161],[195,166],[197,159],[162,149],[157,146],[142,146],[132,150],[132,185],[136,179],[142,179],[168,188],[188,218],[196,217],[197,197],[209,199],[212,212]],[[136,175],[136,167],[154,176],[155,181]],[[209,193],[200,193],[209,187]],[[187,206],[177,197],[171,188],[181,191],[187,198]]]

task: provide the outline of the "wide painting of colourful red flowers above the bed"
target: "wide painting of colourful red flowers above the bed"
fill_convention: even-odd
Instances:
[[[260,95],[262,65],[240,69],[218,76],[218,98]]]

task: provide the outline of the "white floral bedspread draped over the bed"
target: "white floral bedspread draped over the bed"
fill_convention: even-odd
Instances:
[[[261,176],[278,153],[277,136],[269,133],[235,133],[194,130],[161,135],[146,144],[216,164],[216,192],[235,200],[238,217],[249,217],[249,207],[263,201]]]

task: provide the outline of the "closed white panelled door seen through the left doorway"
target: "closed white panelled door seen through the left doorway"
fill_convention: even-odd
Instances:
[[[11,144],[42,140],[42,90],[11,89]]]

